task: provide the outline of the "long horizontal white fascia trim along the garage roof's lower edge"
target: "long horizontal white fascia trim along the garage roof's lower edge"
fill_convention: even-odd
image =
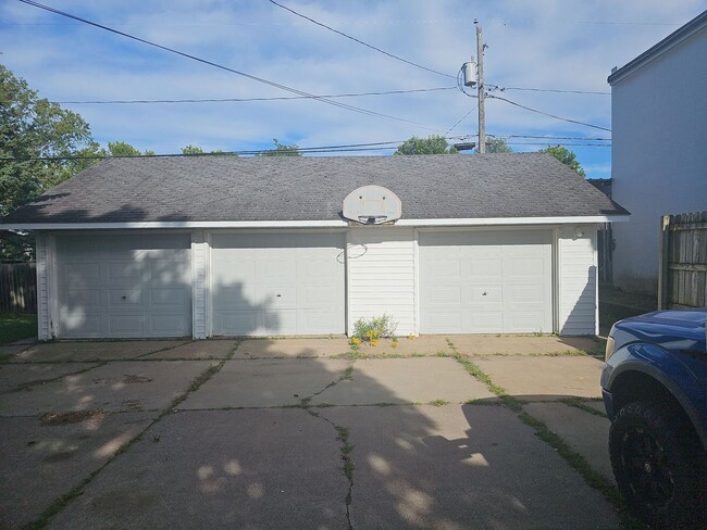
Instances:
[[[629,220],[629,215],[587,215],[573,217],[466,217],[439,219],[399,219],[393,226],[434,227],[434,226],[496,226],[496,225],[558,225],[595,224]],[[346,228],[365,226],[346,220],[166,220],[142,223],[25,223],[0,225],[0,230],[109,230],[109,229],[150,229],[150,228]],[[389,227],[392,225],[376,225]],[[371,227],[375,229],[375,227]]]

